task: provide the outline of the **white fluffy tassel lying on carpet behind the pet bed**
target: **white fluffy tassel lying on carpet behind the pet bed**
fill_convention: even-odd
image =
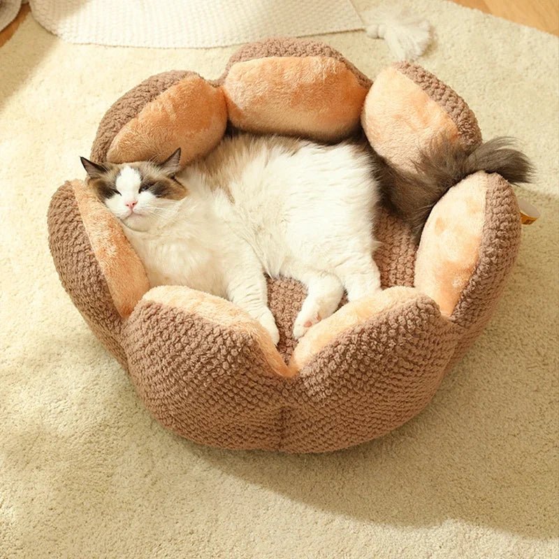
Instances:
[[[398,60],[412,60],[426,51],[431,38],[428,21],[410,14],[405,8],[384,11],[369,10],[363,14],[365,32],[372,38],[383,38]]]

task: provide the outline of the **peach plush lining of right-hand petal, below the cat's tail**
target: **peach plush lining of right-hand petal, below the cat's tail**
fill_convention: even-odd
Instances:
[[[479,259],[484,227],[486,173],[470,175],[435,205],[421,235],[415,286],[452,314]]]

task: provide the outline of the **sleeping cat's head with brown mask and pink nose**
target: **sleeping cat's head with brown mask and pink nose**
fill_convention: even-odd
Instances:
[[[148,231],[173,215],[187,189],[175,179],[180,170],[180,147],[163,163],[94,163],[80,158],[87,183],[99,199],[127,227]]]

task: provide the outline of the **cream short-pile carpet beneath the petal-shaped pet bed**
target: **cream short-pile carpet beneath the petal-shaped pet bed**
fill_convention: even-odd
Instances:
[[[30,17],[0,49],[1,558],[558,557],[559,43],[435,0],[421,62],[465,96],[486,138],[538,168],[498,312],[419,417],[322,456],[228,452],[153,421],[62,290],[52,192],[81,177],[104,110],[145,76],[210,78],[232,48],[62,43]],[[367,1],[358,2],[358,9]],[[386,45],[322,37],[371,76]]]

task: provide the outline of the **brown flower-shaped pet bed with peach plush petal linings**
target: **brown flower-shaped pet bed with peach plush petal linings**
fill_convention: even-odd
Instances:
[[[187,164],[227,126],[327,142],[363,127],[407,170],[441,132],[467,151],[481,143],[465,102],[423,68],[395,64],[372,83],[328,46],[285,39],[241,48],[215,82],[182,71],[148,78],[108,110],[91,157],[164,159],[180,146]],[[349,447],[419,413],[491,317],[520,240],[516,198],[499,175],[452,187],[419,247],[382,209],[384,291],[344,305],[296,344],[303,286],[270,279],[276,349],[226,300],[150,289],[119,224],[81,180],[57,190],[48,227],[64,288],[161,423],[217,447],[289,452]]]

